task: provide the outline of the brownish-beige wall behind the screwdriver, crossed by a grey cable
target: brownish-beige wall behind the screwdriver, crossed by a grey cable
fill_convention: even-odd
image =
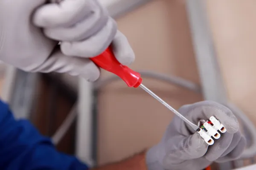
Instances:
[[[153,0],[119,18],[118,26],[137,57],[131,68],[199,83],[183,0]],[[175,108],[202,99],[157,80],[144,79],[143,84]],[[124,159],[156,144],[174,115],[144,91],[127,88],[121,81],[102,89],[99,102],[100,164]]]

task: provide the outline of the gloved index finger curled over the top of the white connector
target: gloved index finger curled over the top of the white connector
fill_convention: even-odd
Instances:
[[[239,130],[239,122],[236,116],[229,108],[217,102],[204,101],[185,105],[180,108],[180,112],[186,114],[187,118],[194,123],[197,123],[200,119],[207,120],[211,116],[215,116],[224,125],[228,133],[233,134]]]

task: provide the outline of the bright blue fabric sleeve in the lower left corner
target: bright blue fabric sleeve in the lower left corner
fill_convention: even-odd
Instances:
[[[15,120],[0,101],[1,170],[88,170],[76,157],[59,153],[27,120]]]

